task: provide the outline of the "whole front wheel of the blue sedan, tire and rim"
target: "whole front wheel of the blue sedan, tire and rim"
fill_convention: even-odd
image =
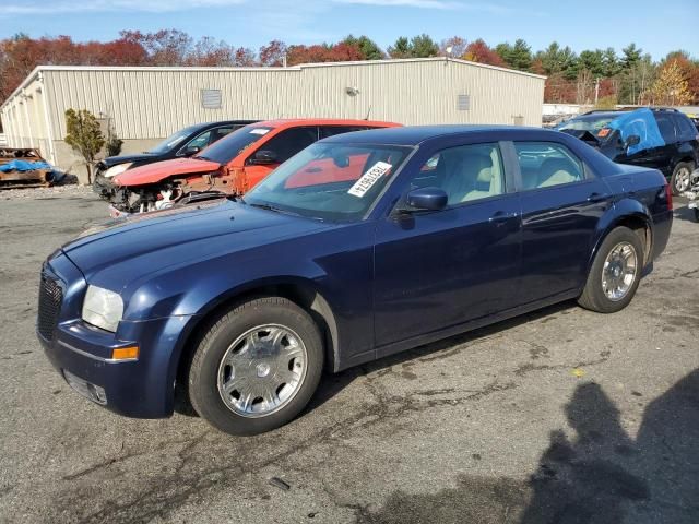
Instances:
[[[209,327],[192,359],[189,395],[220,430],[257,434],[298,415],[322,369],[322,341],[310,315],[285,298],[257,298]]]

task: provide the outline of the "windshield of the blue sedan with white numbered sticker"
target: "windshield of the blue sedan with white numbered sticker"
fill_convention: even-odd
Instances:
[[[245,203],[323,221],[360,221],[411,151],[316,143],[258,183]]]

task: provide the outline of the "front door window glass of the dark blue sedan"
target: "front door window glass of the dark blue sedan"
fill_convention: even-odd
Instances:
[[[412,180],[411,189],[426,187],[443,189],[449,206],[505,193],[498,145],[461,145],[436,153]]]

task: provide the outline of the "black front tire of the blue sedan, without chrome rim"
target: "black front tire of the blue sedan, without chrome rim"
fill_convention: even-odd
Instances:
[[[240,415],[224,403],[218,392],[220,366],[236,338],[266,324],[281,325],[298,335],[306,348],[305,378],[277,410],[256,417]],[[262,433],[287,424],[304,409],[318,388],[323,358],[320,332],[306,311],[282,297],[251,299],[234,306],[209,326],[189,368],[189,397],[197,413],[221,431],[237,436]]]

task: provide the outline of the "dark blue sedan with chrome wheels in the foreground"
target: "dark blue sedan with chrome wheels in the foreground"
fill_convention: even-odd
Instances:
[[[626,307],[667,242],[654,169],[555,131],[395,128],[318,142],[245,200],[114,224],[42,273],[66,380],[132,417],[176,391],[235,434],[293,419],[341,371],[547,305]]]

